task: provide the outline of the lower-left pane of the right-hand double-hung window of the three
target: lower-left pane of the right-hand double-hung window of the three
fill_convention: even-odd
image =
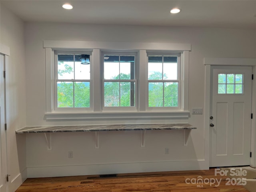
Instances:
[[[148,83],[148,106],[149,107],[163,106],[163,83],[162,82]]]

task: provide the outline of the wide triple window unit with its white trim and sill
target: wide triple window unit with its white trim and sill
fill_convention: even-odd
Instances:
[[[44,48],[46,120],[189,116],[190,44],[44,40]]]

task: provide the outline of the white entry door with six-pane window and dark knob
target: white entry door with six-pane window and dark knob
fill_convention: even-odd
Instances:
[[[213,66],[210,167],[250,165],[252,67]]]

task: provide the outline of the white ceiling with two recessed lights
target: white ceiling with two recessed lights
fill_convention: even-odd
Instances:
[[[62,4],[70,3],[72,10]],[[256,0],[0,0],[25,22],[256,29]],[[171,14],[170,9],[182,11]]]

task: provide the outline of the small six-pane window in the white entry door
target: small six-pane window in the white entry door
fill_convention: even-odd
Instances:
[[[218,94],[242,94],[243,74],[218,74]]]

